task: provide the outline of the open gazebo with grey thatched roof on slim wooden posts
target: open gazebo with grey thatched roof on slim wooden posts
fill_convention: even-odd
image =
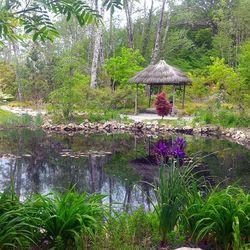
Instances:
[[[135,97],[135,114],[137,114],[138,107],[138,84],[149,85],[149,104],[151,101],[151,87],[152,85],[173,85],[173,110],[175,102],[176,86],[183,86],[182,107],[184,107],[185,100],[185,86],[191,84],[191,80],[177,68],[168,65],[164,60],[160,60],[155,65],[149,65],[144,70],[129,80],[130,83],[136,83],[136,97]]]

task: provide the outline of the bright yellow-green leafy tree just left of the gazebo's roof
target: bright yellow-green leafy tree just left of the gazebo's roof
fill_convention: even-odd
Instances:
[[[143,62],[139,50],[122,48],[121,55],[106,60],[104,68],[112,79],[113,86],[116,84],[125,86],[135,73],[143,69],[141,66]]]

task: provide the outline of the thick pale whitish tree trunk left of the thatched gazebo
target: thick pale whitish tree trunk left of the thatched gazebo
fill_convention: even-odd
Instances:
[[[104,14],[104,7],[102,5],[100,10],[100,15],[103,16],[103,14]],[[99,24],[95,36],[95,45],[94,45],[93,60],[91,66],[91,82],[90,82],[91,88],[97,87],[97,68],[98,68],[99,54],[101,51],[101,37],[102,37],[102,25]]]

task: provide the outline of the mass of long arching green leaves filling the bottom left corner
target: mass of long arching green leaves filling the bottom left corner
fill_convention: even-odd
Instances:
[[[24,203],[14,192],[0,195],[0,250],[28,249],[49,242],[54,249],[84,249],[87,239],[103,227],[103,195],[33,195]]]

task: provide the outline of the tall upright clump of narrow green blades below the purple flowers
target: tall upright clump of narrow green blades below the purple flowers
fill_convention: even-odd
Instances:
[[[170,166],[161,165],[159,186],[155,187],[156,206],[155,210],[159,221],[159,229],[163,242],[173,232],[185,210],[187,200],[196,190],[198,180],[194,179],[193,166],[180,168],[176,161]]]

